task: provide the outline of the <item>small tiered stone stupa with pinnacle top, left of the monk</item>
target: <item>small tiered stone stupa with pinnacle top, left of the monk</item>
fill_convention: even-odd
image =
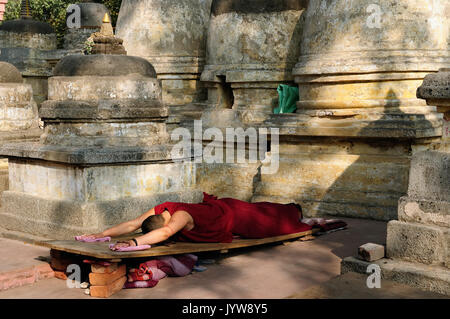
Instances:
[[[93,51],[102,54],[67,56],[55,67],[39,111],[40,143],[0,150],[11,163],[0,213],[8,230],[70,239],[166,201],[202,198],[191,189],[193,164],[172,157],[153,66],[110,54],[123,50],[104,24],[93,37]]]

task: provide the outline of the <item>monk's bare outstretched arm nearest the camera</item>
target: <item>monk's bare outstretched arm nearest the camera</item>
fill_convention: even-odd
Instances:
[[[192,217],[184,211],[176,212],[175,214],[173,214],[172,218],[170,219],[169,223],[166,226],[151,231],[143,236],[135,238],[138,243],[138,246],[154,245],[166,241],[171,236],[183,230],[183,228],[186,227],[186,225],[191,221],[191,219]],[[129,246],[135,246],[135,243],[131,240],[128,242],[118,243],[113,248],[113,250]]]

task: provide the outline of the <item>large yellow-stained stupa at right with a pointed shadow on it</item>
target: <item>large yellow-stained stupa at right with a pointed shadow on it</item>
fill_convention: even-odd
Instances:
[[[450,64],[449,10],[447,0],[309,1],[293,69],[298,109],[263,123],[280,128],[280,170],[254,200],[396,219],[411,156],[442,136],[443,115],[416,90]]]

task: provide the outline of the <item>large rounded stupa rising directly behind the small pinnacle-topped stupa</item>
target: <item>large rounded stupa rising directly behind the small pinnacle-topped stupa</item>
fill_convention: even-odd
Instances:
[[[202,101],[206,29],[212,0],[123,0],[117,36],[128,54],[146,58],[162,81],[163,101]]]

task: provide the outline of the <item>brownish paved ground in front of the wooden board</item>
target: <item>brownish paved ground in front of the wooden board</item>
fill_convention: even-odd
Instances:
[[[340,274],[340,262],[355,255],[367,242],[384,244],[386,223],[345,219],[349,229],[310,242],[271,245],[231,252],[228,255],[207,254],[215,258],[208,270],[184,278],[163,279],[155,288],[122,290],[112,298],[133,299],[202,299],[202,298],[404,298],[441,297],[394,283],[383,283],[385,289],[374,291],[365,286],[366,277]],[[3,242],[8,244],[8,242]],[[22,245],[22,244],[20,244]],[[2,257],[18,263],[16,248],[2,245]],[[45,255],[39,248],[35,256]],[[47,251],[48,255],[48,251]],[[36,258],[34,257],[34,258]],[[20,260],[32,260],[25,255]],[[19,262],[20,264],[20,262]],[[68,289],[64,281],[52,278],[33,285],[0,292],[0,298],[84,299],[80,289]]]

